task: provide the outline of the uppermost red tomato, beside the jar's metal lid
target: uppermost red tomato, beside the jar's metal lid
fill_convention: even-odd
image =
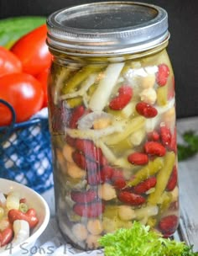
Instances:
[[[50,67],[51,55],[46,45],[47,27],[42,25],[20,38],[11,48],[22,62],[23,72],[37,75]]]

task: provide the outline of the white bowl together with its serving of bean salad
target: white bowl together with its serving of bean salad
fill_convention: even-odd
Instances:
[[[27,253],[47,227],[49,206],[23,184],[0,179],[0,188],[0,255]]]

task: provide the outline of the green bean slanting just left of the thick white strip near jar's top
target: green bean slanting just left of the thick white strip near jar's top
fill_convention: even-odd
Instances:
[[[79,85],[88,77],[91,73],[102,70],[103,65],[87,65],[82,67],[79,72],[70,78],[70,80],[65,83],[64,88],[62,88],[61,93],[66,94],[74,91]]]

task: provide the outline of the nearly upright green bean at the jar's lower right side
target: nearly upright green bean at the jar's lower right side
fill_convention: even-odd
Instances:
[[[175,165],[175,153],[167,152],[164,157],[164,167],[161,168],[157,174],[157,184],[155,186],[154,193],[148,196],[148,203],[156,205],[159,203],[160,197],[166,188],[169,176],[172,173],[173,167]]]

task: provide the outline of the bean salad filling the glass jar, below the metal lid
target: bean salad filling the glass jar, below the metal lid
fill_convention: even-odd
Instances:
[[[74,246],[133,221],[171,236],[179,201],[174,74],[166,51],[135,61],[53,63],[55,202]]]

